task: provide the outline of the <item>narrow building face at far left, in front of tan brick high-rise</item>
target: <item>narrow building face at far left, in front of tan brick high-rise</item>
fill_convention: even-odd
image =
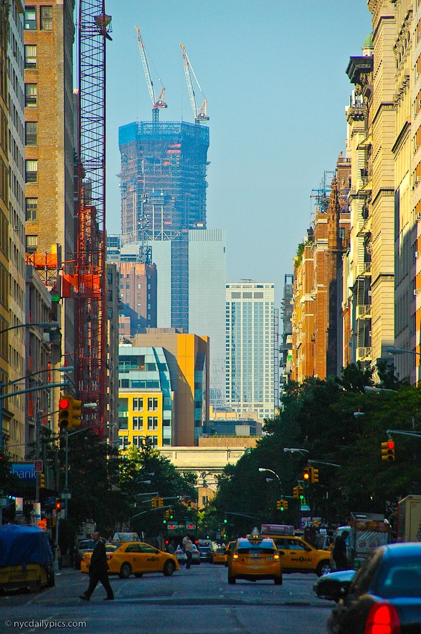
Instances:
[[[23,4],[9,3],[9,381],[25,376],[25,117],[23,113]],[[18,328],[16,328],[16,326]],[[46,378],[46,377],[44,377]],[[20,384],[21,387],[23,384]],[[25,395],[9,399],[13,412],[9,444],[15,456],[25,456]]]

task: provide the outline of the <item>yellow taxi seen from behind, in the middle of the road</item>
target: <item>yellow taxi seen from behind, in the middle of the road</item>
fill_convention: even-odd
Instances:
[[[228,560],[228,583],[237,579],[273,579],[275,585],[282,584],[282,564],[273,540],[262,538],[258,531],[237,539]]]

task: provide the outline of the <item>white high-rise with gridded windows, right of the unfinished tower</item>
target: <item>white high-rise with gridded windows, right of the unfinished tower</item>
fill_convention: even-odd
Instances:
[[[274,302],[271,283],[226,285],[226,402],[242,415],[273,417]]]

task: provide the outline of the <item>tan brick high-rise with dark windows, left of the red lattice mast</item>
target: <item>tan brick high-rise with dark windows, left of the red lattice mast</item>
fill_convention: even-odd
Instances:
[[[75,254],[74,8],[75,0],[51,0],[48,4],[34,0],[25,6],[23,23],[26,251],[28,262],[40,274],[42,271],[49,290],[60,290],[56,288],[57,270],[61,262],[72,261]],[[55,304],[61,321],[63,354],[72,366],[76,365],[74,303],[66,297],[60,305]],[[59,396],[60,391],[55,389],[51,411],[58,410]]]

